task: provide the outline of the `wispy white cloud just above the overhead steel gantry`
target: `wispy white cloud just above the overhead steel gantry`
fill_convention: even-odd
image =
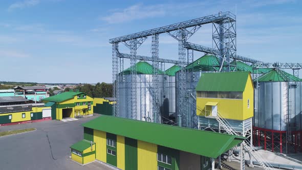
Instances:
[[[142,4],[137,4],[125,8],[120,12],[114,12],[111,15],[101,17],[101,19],[105,20],[107,23],[114,24],[155,16],[163,16],[164,14],[165,11],[163,9],[163,5],[143,6]]]

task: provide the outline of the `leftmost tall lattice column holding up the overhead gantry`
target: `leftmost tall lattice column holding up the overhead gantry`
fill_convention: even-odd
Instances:
[[[114,116],[119,116],[119,62],[118,62],[118,43],[112,44],[112,81],[113,81],[113,98],[116,101],[113,104]]]

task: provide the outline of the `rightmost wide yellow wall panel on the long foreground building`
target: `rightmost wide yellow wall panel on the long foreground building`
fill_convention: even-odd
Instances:
[[[156,170],[157,169],[157,145],[137,141],[137,169]]]

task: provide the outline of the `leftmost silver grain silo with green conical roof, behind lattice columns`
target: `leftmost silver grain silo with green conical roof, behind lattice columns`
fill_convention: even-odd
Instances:
[[[137,96],[137,112],[131,113],[131,70],[128,68],[121,72],[119,82],[119,116],[143,121],[154,121],[154,115],[152,111],[153,101],[153,89],[152,89],[152,74],[154,68],[146,61],[139,61],[135,65],[136,76],[136,96]],[[163,82],[164,78],[168,76],[164,75],[161,70],[158,70],[159,77],[159,102],[163,103]],[[136,115],[134,117],[134,115]]]

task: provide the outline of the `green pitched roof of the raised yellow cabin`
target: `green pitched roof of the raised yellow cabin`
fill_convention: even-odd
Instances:
[[[243,92],[249,72],[203,73],[196,91]]]

